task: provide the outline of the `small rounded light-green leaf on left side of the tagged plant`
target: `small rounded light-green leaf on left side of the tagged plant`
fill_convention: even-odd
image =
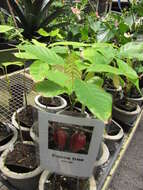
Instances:
[[[30,74],[36,82],[42,81],[43,79],[45,79],[47,76],[48,70],[49,70],[48,64],[45,62],[41,62],[39,60],[35,61],[30,66]]]

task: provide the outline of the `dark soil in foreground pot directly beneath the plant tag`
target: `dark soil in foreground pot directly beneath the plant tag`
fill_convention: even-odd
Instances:
[[[53,174],[45,183],[44,190],[87,190],[89,189],[88,179],[65,177]]]

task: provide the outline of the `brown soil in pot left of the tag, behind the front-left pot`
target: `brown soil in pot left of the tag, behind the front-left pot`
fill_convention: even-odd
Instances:
[[[36,108],[28,105],[18,113],[18,117],[21,126],[30,128],[33,125],[36,117],[38,117],[38,112]]]

